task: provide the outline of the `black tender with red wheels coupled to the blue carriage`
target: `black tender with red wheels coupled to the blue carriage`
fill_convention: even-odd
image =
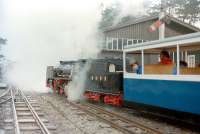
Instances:
[[[91,60],[85,84],[85,97],[106,104],[122,105],[123,61],[122,59]]]

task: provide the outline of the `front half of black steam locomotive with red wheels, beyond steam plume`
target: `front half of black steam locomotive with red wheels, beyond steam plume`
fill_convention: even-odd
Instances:
[[[46,86],[60,95],[66,94],[64,88],[72,81],[73,76],[85,65],[86,60],[60,61],[58,67],[48,66],[46,73]]]

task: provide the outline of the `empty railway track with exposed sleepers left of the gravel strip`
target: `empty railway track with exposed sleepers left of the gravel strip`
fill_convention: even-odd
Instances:
[[[24,95],[17,90],[14,95],[11,90],[12,106],[14,115],[15,134],[50,134],[49,130],[55,130],[54,126],[47,126],[48,120],[41,119],[44,116],[36,100]]]

